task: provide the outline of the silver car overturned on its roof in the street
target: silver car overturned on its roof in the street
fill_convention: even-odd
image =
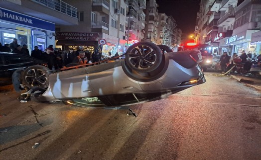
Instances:
[[[110,63],[70,67],[61,72],[44,66],[18,69],[13,74],[13,85],[17,92],[27,87],[28,94],[39,101],[132,105],[204,83],[198,65],[201,61],[198,50],[172,52],[164,45],[138,42],[129,47],[125,59]]]

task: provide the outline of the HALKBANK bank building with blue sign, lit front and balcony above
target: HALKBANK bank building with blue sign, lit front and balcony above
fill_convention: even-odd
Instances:
[[[55,25],[78,25],[77,8],[62,0],[1,0],[0,42],[34,46],[55,45]]]

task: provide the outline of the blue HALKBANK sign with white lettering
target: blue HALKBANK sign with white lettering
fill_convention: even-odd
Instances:
[[[18,24],[28,25],[50,31],[55,31],[55,24],[38,18],[20,14],[0,7],[0,19]]]

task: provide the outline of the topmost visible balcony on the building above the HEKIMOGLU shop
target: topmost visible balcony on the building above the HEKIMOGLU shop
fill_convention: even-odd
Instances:
[[[93,0],[92,11],[102,12],[109,15],[110,3],[106,0]]]

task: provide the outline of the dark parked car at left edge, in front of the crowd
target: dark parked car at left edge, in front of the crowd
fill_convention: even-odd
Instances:
[[[0,52],[0,86],[12,83],[12,74],[18,68],[46,65],[46,62],[21,54]]]

